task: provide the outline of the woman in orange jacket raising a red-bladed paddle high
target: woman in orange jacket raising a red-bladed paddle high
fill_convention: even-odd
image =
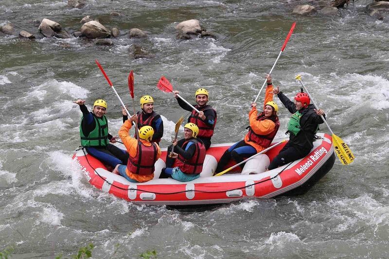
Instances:
[[[220,173],[224,170],[232,158],[236,163],[242,162],[245,157],[255,155],[265,148],[269,147],[271,141],[276,136],[280,127],[280,121],[277,117],[278,105],[273,102],[273,85],[271,76],[266,75],[267,87],[265,92],[264,111],[257,114],[256,104],[251,104],[251,111],[248,113],[250,126],[245,138],[227,149],[217,164],[216,172]],[[241,165],[241,168],[245,164]]]

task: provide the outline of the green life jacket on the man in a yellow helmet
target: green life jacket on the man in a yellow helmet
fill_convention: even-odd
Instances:
[[[106,116],[103,115],[102,118],[97,118],[93,112],[90,112],[93,115],[93,120],[95,121],[94,129],[85,136],[81,123],[80,123],[80,137],[81,137],[81,145],[84,147],[97,147],[102,148],[106,147],[109,143],[108,140],[108,121]],[[84,116],[81,117],[81,121],[84,119]]]

